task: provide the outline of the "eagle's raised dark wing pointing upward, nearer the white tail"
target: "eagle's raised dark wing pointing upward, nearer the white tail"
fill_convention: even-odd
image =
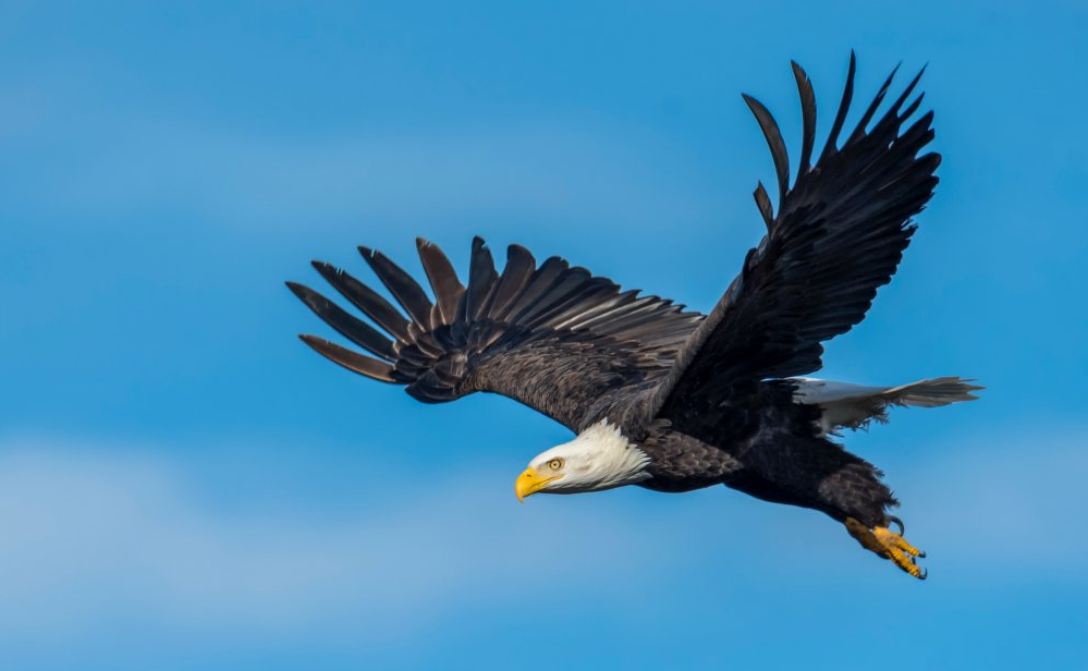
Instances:
[[[759,184],[755,197],[767,235],[748,252],[739,276],[676,355],[673,369],[643,408],[646,418],[669,404],[676,410],[685,404],[714,407],[737,385],[819,369],[820,343],[865,317],[915,231],[910,217],[921,211],[937,185],[940,156],[918,156],[933,138],[933,114],[907,125],[921,102],[921,95],[906,102],[920,72],[870,127],[893,72],[839,147],[854,88],[852,53],[830,137],[810,167],[815,96],[800,66],[794,63],[793,70],[803,112],[797,179],[791,187],[785,144],[774,119],[745,96],[774,158],[779,211],[772,213]]]

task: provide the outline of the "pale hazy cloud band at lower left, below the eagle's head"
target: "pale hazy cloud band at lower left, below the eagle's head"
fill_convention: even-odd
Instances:
[[[166,460],[89,453],[2,451],[0,639],[94,635],[117,625],[103,613],[242,635],[403,635],[464,599],[511,598],[526,576],[575,589],[597,580],[578,570],[589,562],[621,580],[646,549],[633,520],[570,510],[547,536],[560,550],[540,551],[531,511],[478,493],[492,474],[459,474],[409,508],[232,515]]]

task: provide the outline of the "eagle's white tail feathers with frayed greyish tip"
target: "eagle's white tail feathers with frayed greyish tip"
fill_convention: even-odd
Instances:
[[[820,429],[831,432],[840,428],[857,429],[870,422],[888,422],[891,405],[937,407],[959,401],[978,399],[973,391],[982,387],[973,379],[940,377],[918,380],[898,387],[863,387],[815,378],[793,378],[797,390],[794,400],[806,405],[819,405],[823,411]]]

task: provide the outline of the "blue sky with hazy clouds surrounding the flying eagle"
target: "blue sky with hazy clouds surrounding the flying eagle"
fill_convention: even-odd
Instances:
[[[735,4],[735,5],[731,5]],[[1083,2],[0,5],[0,666],[1074,669],[1088,656]],[[913,581],[725,488],[535,497],[569,439],[295,334],[358,244],[474,234],[709,309],[794,154],[929,63],[941,184],[832,379],[983,400],[847,437]],[[822,143],[822,139],[820,141]]]

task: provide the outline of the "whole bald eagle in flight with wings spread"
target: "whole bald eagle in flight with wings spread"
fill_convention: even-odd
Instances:
[[[368,355],[301,338],[337,364],[402,385],[425,403],[499,393],[574,431],[574,440],[529,462],[515,484],[518,499],[722,484],[823,511],[863,547],[925,578],[916,561],[925,554],[889,514],[898,502],[881,472],[833,437],[885,422],[893,405],[945,405],[973,400],[981,388],[958,377],[890,388],[799,377],[822,366],[823,341],[865,317],[910,242],[912,217],[938,182],[940,156],[920,154],[933,138],[933,113],[915,115],[921,94],[908,101],[921,72],[876,117],[893,71],[840,145],[854,73],[852,53],[830,136],[812,164],[815,95],[793,63],[803,120],[793,184],[778,123],[744,96],[770,146],[778,210],[760,183],[755,198],[767,234],[708,315],[621,291],[560,257],[538,265],[518,245],[509,247],[500,273],[479,237],[465,286],[442,251],[418,240],[433,300],[380,252],[359,247],[403,312],[343,270],[314,263],[378,328],[288,283]]]

